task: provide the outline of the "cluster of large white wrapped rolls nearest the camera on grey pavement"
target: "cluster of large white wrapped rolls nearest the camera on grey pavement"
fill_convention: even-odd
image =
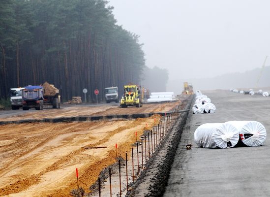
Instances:
[[[265,127],[256,121],[203,124],[194,132],[194,142],[203,148],[232,148],[241,140],[246,146],[261,146]]]

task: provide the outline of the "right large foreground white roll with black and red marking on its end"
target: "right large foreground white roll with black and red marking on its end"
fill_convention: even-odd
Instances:
[[[266,129],[257,121],[229,121],[237,128],[241,141],[247,146],[261,146],[266,140]]]

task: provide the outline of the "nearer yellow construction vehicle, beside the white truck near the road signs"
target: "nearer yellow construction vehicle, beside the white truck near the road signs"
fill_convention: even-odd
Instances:
[[[141,90],[138,85],[125,85],[124,86],[124,95],[122,96],[120,107],[127,106],[143,106],[141,98]]]

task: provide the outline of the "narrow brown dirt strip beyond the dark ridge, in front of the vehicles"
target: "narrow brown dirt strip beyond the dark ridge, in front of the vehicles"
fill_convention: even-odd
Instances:
[[[120,108],[119,106],[114,105],[69,106],[62,109],[41,110],[19,115],[11,115],[4,118],[0,118],[0,121],[167,112],[179,104],[180,101],[168,103],[144,104],[140,108],[137,107]]]

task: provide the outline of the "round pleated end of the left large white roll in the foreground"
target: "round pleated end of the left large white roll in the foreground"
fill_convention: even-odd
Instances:
[[[213,141],[218,148],[232,148],[239,140],[239,132],[232,124],[224,123],[213,132]]]

